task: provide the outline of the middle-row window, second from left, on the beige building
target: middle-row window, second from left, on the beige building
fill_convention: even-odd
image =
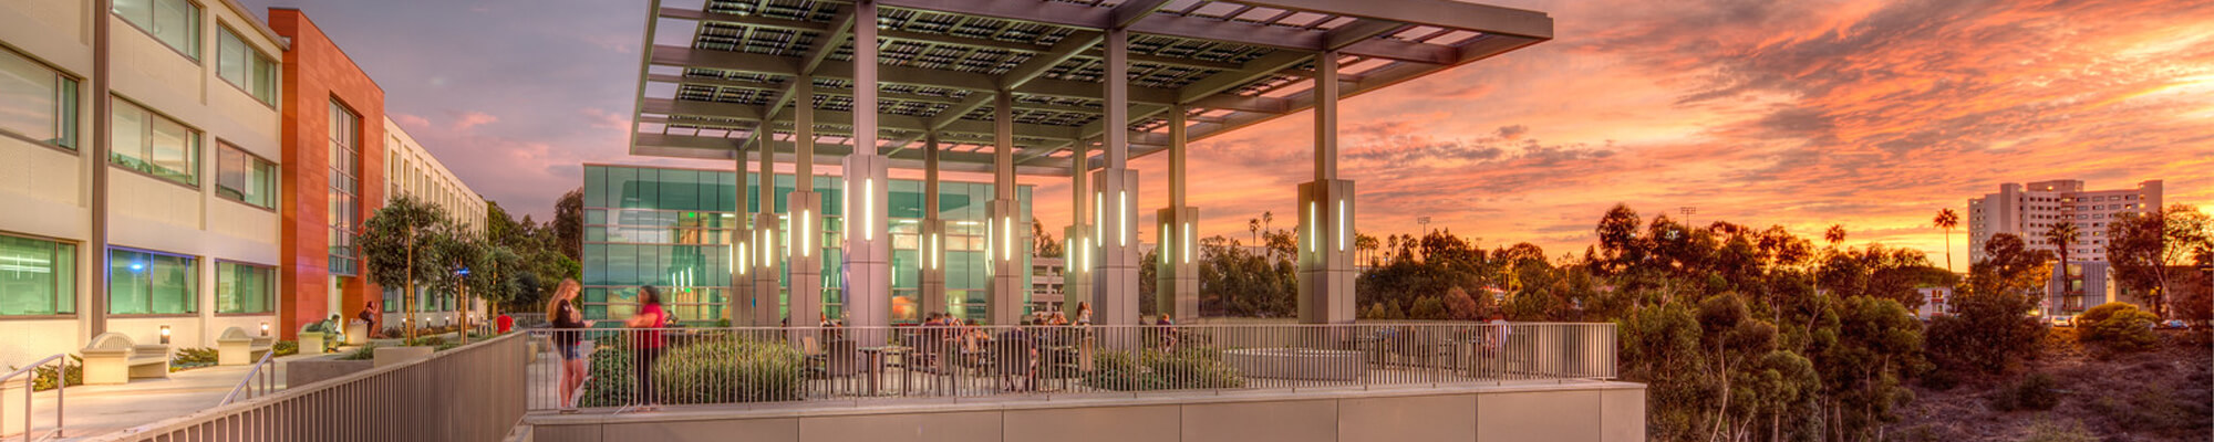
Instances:
[[[115,152],[108,161],[153,177],[199,186],[199,133],[137,104],[115,102]]]

